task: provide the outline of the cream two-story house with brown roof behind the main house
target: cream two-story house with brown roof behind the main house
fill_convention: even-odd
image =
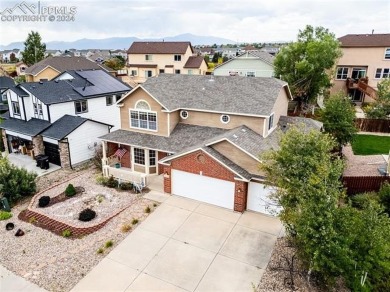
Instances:
[[[161,73],[204,75],[207,71],[190,42],[133,42],[127,54],[128,74],[137,83]]]

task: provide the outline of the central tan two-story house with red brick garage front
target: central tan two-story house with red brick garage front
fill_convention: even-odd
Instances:
[[[294,120],[289,100],[275,78],[149,78],[118,101],[121,129],[100,137],[103,173],[146,185],[161,175],[166,193],[269,212],[259,155],[278,147],[278,123]]]

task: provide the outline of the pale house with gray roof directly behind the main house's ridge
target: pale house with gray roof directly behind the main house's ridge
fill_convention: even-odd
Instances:
[[[261,51],[241,53],[237,57],[218,65],[214,69],[215,76],[248,76],[273,77],[274,56]]]

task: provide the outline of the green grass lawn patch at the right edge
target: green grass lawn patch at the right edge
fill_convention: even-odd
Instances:
[[[390,136],[355,135],[352,149],[355,155],[388,154]]]

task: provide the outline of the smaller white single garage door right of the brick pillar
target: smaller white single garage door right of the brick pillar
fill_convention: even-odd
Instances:
[[[279,214],[281,207],[269,197],[272,191],[272,187],[250,182],[248,186],[247,209],[273,216]]]

